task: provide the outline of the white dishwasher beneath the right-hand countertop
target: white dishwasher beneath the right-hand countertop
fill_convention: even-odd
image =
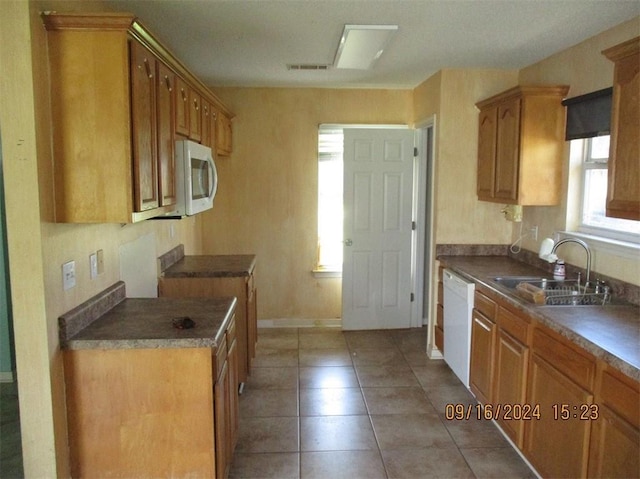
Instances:
[[[444,360],[468,388],[475,284],[445,269],[443,286]]]

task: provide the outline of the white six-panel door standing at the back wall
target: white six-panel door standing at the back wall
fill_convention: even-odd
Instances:
[[[413,130],[344,130],[342,328],[411,326]]]

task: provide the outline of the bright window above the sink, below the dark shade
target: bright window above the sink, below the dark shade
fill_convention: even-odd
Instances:
[[[609,135],[596,136],[582,143],[582,208],[579,230],[623,241],[640,242],[640,221],[605,216]]]

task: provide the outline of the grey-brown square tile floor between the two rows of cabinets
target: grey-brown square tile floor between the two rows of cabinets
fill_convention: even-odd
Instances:
[[[493,424],[446,420],[475,401],[425,334],[260,329],[230,477],[536,477]]]

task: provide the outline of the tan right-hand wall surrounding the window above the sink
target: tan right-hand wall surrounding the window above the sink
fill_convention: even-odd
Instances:
[[[569,97],[583,95],[613,84],[613,63],[606,59],[601,51],[638,36],[640,17],[622,23],[578,45],[553,55],[539,63],[520,71],[521,84],[564,84],[570,85]],[[530,251],[538,251],[540,241],[551,237],[555,231],[563,231],[567,224],[567,185],[569,172],[569,143],[565,149],[563,168],[563,201],[557,207],[524,208],[524,224],[538,225],[538,240],[526,239],[523,247]],[[514,239],[518,231],[514,230]],[[592,269],[598,273],[640,284],[640,258],[637,255],[619,256],[599,249],[592,244]],[[572,264],[585,266],[585,255],[582,248],[565,246],[563,258]]]

